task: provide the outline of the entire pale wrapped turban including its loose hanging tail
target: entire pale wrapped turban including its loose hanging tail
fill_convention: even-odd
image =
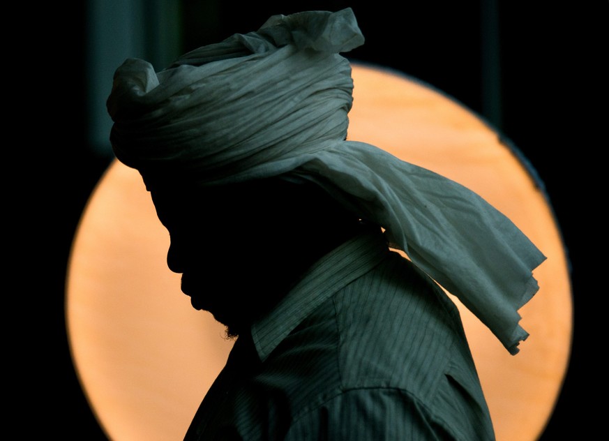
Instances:
[[[258,31],[183,55],[156,73],[128,59],[107,109],[116,157],[146,188],[315,181],[456,295],[511,354],[518,309],[546,257],[471,190],[364,142],[346,140],[353,81],[340,52],[363,44],[350,8],[275,15]]]

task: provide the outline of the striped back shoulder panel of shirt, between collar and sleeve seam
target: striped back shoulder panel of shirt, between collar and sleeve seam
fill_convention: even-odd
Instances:
[[[425,393],[462,339],[458,311],[430,278],[398,253],[334,297],[345,387]]]

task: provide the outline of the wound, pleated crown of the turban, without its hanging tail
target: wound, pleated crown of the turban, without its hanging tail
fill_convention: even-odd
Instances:
[[[128,59],[107,102],[116,157],[149,188],[204,185],[343,140],[353,81],[338,52],[362,43],[347,9],[273,16],[159,73]]]

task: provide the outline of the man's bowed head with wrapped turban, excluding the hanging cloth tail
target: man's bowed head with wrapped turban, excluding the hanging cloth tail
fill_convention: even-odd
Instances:
[[[116,158],[151,192],[182,290],[234,332],[359,225],[326,172],[356,170],[341,53],[363,41],[350,8],[274,15],[159,72],[127,59],[114,73]]]

